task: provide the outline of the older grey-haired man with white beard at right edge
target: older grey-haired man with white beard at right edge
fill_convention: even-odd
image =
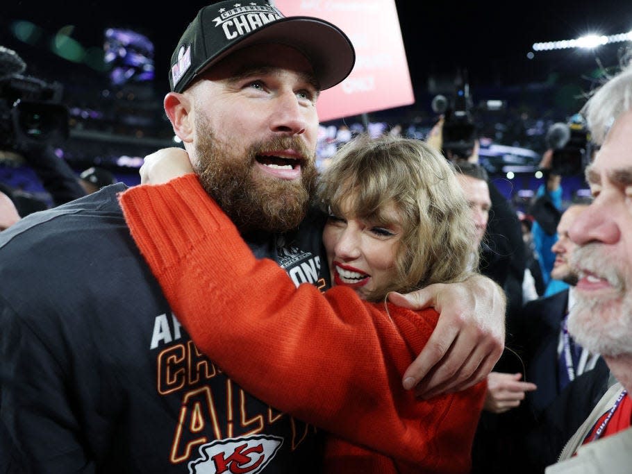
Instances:
[[[628,55],[629,59],[630,56]],[[578,273],[568,331],[600,354],[617,380],[547,474],[629,472],[632,462],[632,62],[601,85],[582,113],[600,146],[585,169],[593,201],[568,230]]]

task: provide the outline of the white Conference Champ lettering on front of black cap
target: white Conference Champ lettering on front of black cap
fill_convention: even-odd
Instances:
[[[235,8],[219,9],[219,17],[214,18],[215,26],[222,26],[226,40],[234,40],[238,36],[250,33],[261,26],[276,22],[283,15],[273,6],[256,5],[241,6],[235,3]]]

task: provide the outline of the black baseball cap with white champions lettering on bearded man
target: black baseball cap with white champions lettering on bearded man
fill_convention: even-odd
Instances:
[[[183,92],[208,67],[260,43],[285,44],[303,53],[322,90],[342,82],[356,61],[349,37],[324,19],[284,17],[265,0],[219,1],[201,8],[180,38],[171,58],[171,90]]]

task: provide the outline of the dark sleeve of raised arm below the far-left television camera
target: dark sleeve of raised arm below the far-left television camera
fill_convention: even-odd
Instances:
[[[51,195],[54,205],[60,205],[85,196],[76,173],[63,158],[59,158],[50,145],[22,146],[20,153],[37,173],[42,186]]]

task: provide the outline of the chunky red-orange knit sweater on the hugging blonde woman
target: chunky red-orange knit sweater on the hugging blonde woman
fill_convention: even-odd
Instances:
[[[387,312],[346,287],[295,287],[253,256],[193,174],[133,187],[120,201],[198,348],[254,396],[332,434],[326,471],[469,471],[484,382],[431,400],[401,386],[434,310],[389,303]]]

